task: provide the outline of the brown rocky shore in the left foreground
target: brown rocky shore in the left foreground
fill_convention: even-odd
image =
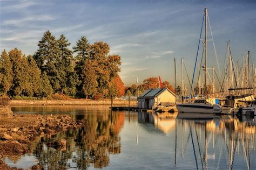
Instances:
[[[40,137],[51,138],[60,131],[76,129],[85,124],[85,121],[73,120],[69,116],[17,114],[0,119],[0,169],[12,169],[4,163],[2,158],[17,157],[32,152],[29,146]],[[48,145],[66,147],[65,139]]]

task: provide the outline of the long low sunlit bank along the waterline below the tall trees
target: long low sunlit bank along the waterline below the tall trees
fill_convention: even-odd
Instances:
[[[111,100],[11,100],[10,105],[111,105]],[[128,105],[126,100],[113,100],[113,105]],[[130,101],[131,105],[137,105],[137,101]]]

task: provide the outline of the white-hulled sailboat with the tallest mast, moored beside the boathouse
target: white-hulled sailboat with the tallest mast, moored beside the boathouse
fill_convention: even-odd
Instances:
[[[207,89],[207,8],[204,10],[204,23],[205,23],[205,38],[204,38],[204,54],[205,54],[205,65],[204,65],[204,89]],[[207,96],[207,95],[206,95]],[[193,103],[182,103],[177,104],[179,112],[190,112],[190,113],[220,113],[222,111],[220,105],[211,104],[206,101],[205,98],[195,100]]]

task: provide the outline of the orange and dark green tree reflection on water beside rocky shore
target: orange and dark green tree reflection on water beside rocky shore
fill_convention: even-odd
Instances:
[[[73,164],[79,169],[85,169],[90,164],[96,168],[109,165],[109,154],[121,151],[118,133],[124,124],[124,114],[114,113],[112,118],[111,114],[91,114],[85,115],[85,119],[87,125],[83,128],[59,133],[53,139],[44,139],[46,142],[66,139],[66,151],[37,144],[35,155],[39,165],[50,169],[65,169]]]

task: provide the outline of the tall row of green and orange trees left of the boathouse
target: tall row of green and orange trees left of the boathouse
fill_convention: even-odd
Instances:
[[[2,96],[44,98],[63,94],[78,98],[123,96],[120,79],[121,58],[110,55],[102,41],[90,44],[82,36],[71,50],[62,34],[57,39],[46,31],[35,54],[25,56],[15,48],[0,58]]]

